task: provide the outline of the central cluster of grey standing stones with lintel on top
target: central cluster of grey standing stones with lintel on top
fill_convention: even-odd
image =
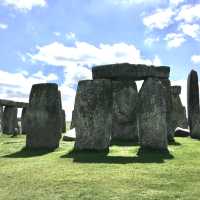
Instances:
[[[93,67],[93,80],[78,83],[71,122],[77,134],[75,148],[103,150],[111,139],[139,139],[141,148],[167,150],[176,126],[187,127],[180,92],[171,87],[169,73],[167,66],[121,63]],[[144,80],[139,92],[138,80]],[[111,86],[106,89],[106,85]]]

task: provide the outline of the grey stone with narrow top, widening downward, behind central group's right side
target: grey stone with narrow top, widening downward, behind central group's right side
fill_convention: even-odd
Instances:
[[[177,127],[181,127],[183,129],[188,128],[186,110],[181,103],[181,99],[179,97],[180,93],[181,93],[180,86],[171,87],[171,97],[172,97],[171,128],[173,132]]]

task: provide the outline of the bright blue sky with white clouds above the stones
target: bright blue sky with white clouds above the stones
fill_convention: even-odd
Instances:
[[[0,45],[0,98],[28,102],[32,84],[54,82],[67,120],[78,81],[101,64],[170,66],[186,105],[200,0],[0,0]]]

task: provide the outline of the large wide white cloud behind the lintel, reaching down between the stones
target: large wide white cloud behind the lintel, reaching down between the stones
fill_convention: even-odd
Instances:
[[[126,43],[94,46],[90,43],[76,41],[74,46],[65,46],[54,42],[38,46],[37,53],[29,53],[28,56],[33,62],[43,62],[64,68],[65,81],[60,86],[60,90],[67,120],[71,119],[77,83],[81,79],[92,78],[91,67],[93,65],[121,62],[161,65],[158,56],[146,59],[134,45]]]

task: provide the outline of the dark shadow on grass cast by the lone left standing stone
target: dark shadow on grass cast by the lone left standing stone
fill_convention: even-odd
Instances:
[[[18,152],[8,154],[3,157],[4,158],[29,158],[29,157],[42,156],[42,155],[51,153],[54,150],[55,149],[28,149],[24,147]]]

